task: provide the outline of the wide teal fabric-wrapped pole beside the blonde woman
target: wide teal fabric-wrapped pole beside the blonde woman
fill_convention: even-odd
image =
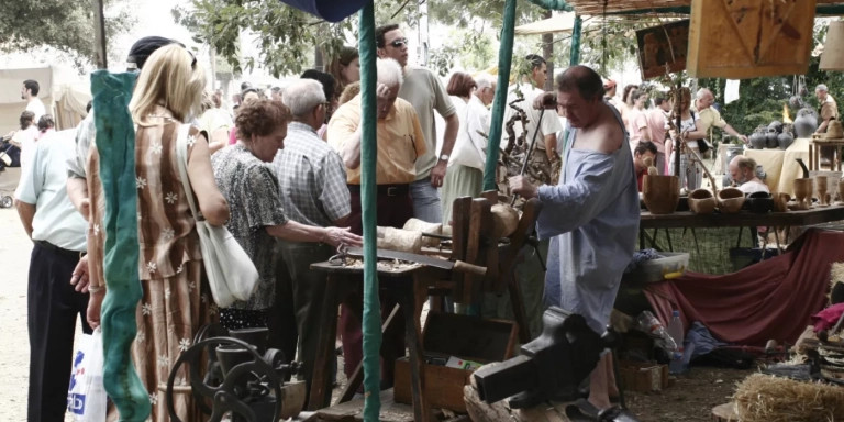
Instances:
[[[103,387],[120,420],[143,422],[152,411],[149,393],[132,365],[132,342],[137,334],[135,311],[143,296],[137,274],[137,187],[135,131],[129,100],[133,73],[91,74],[100,179],[106,197],[103,276],[108,292],[102,302]]]

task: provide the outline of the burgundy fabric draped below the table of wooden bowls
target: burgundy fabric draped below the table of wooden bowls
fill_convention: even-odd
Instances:
[[[782,255],[723,276],[687,273],[645,296],[664,324],[677,309],[687,330],[700,321],[728,343],[793,343],[826,304],[831,265],[842,260],[844,233],[813,229]]]

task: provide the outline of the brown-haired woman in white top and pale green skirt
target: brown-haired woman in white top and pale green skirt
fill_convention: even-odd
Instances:
[[[469,74],[457,71],[448,80],[446,91],[460,118],[460,129],[448,158],[448,171],[440,193],[443,222],[452,220],[452,204],[460,197],[477,197],[484,188],[484,163],[487,140],[478,132],[489,132],[489,111],[473,92],[477,84]]]

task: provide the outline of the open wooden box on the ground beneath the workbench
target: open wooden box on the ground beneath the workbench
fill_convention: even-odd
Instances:
[[[487,364],[513,356],[518,342],[518,325],[512,321],[485,320],[478,316],[431,312],[427,314],[422,344],[425,356],[462,359]],[[463,387],[469,384],[473,370],[424,365],[424,396],[432,408],[466,412]],[[396,402],[411,403],[410,363],[407,357],[396,360]]]

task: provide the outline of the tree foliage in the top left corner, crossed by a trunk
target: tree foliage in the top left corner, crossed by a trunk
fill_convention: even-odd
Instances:
[[[107,37],[131,25],[129,9],[107,1]],[[95,59],[93,9],[90,1],[5,1],[0,13],[0,52],[53,47],[70,54],[77,66]]]

